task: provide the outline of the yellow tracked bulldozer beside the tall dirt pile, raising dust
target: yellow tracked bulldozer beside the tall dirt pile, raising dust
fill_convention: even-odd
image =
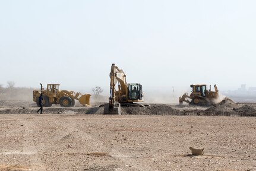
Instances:
[[[192,88],[190,96],[188,96],[188,93],[185,93],[182,97],[179,97],[180,105],[182,105],[183,102],[187,102],[189,105],[200,106],[215,105],[218,103],[219,90],[216,85],[214,85],[215,91],[211,91],[211,85],[210,90],[207,90],[206,84],[190,85],[190,87]],[[191,101],[188,99],[191,99]]]

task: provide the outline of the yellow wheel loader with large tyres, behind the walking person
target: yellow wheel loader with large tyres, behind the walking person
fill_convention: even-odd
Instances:
[[[50,107],[52,104],[64,107],[75,106],[75,100],[81,105],[90,105],[90,94],[76,93],[75,91],[59,90],[60,84],[47,84],[46,90],[42,84],[40,90],[33,90],[33,101],[39,106],[39,96],[43,94],[43,106]]]

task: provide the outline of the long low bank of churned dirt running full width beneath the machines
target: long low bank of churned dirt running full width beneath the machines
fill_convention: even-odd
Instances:
[[[104,111],[103,103],[93,103],[90,107],[81,105],[75,107],[43,107],[43,113],[46,114],[96,114],[102,115]],[[39,107],[33,102],[27,101],[0,101],[0,114],[36,114]],[[256,116],[254,106],[239,105],[229,98],[211,107],[187,106],[166,104],[151,104],[151,106],[140,107],[133,106],[121,107],[122,115],[206,115],[206,116]]]

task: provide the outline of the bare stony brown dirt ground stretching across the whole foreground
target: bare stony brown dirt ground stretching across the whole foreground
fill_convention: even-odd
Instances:
[[[0,102],[0,170],[256,170],[254,106],[98,105]]]

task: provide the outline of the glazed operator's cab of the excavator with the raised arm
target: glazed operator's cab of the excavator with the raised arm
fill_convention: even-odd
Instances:
[[[143,100],[142,85],[137,83],[128,84],[128,99]]]

